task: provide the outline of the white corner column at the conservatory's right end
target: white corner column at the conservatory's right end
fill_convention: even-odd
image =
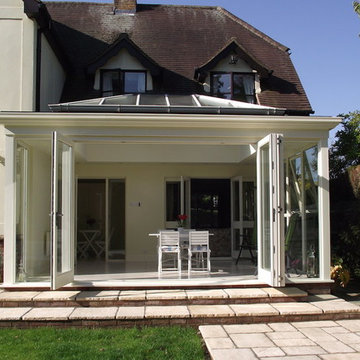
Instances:
[[[321,280],[330,280],[330,197],[328,138],[318,143],[319,175],[319,271]]]

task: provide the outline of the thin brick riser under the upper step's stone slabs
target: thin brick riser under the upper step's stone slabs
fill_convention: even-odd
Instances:
[[[2,301],[0,307],[108,307],[108,306],[177,306],[177,305],[228,305],[305,302],[304,297],[274,298],[212,298],[162,300],[66,300],[66,301]]]

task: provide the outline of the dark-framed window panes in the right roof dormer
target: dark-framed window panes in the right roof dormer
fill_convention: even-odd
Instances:
[[[213,72],[211,73],[210,87],[213,96],[251,104],[256,103],[254,74]]]

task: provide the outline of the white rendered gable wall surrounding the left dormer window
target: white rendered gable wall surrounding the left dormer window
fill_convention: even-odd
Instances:
[[[121,70],[146,70],[146,68],[126,49],[121,49],[119,53],[102,66],[100,69],[121,69]],[[94,89],[100,90],[100,69],[96,70]],[[152,76],[146,72],[146,90],[153,90]]]

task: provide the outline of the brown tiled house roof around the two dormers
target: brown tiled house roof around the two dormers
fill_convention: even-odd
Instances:
[[[290,112],[312,111],[288,49],[220,7],[138,5],[136,13],[129,15],[114,14],[112,4],[47,2],[46,6],[73,69],[63,101],[98,95],[92,94],[90,82],[84,82],[85,69],[127,33],[165,69],[163,91],[169,91],[176,82],[178,92],[199,92],[195,69],[208,63],[233,39],[272,71],[261,81],[261,105]]]

